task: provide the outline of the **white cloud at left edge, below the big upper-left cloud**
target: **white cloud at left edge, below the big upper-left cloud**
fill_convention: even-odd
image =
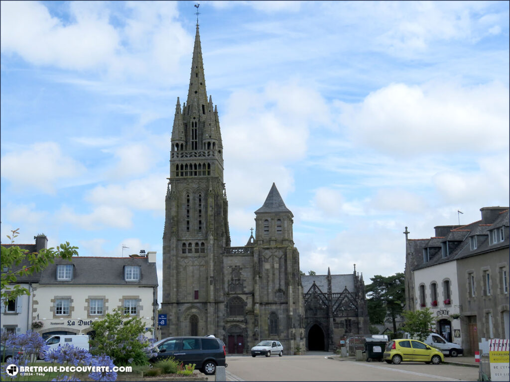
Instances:
[[[5,154],[0,163],[2,177],[15,187],[35,187],[53,193],[60,179],[77,178],[85,172],[78,161],[54,142],[35,143],[28,149]]]

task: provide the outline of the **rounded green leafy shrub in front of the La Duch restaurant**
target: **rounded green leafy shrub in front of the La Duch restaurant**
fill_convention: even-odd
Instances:
[[[120,309],[107,313],[102,320],[90,325],[95,336],[90,340],[94,353],[106,354],[116,366],[142,365],[148,363],[145,349],[150,340],[145,337],[145,325],[141,318],[124,315]]]

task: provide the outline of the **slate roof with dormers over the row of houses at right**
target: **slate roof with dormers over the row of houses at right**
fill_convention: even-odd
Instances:
[[[489,240],[490,231],[506,227],[504,230],[504,240],[496,244],[491,244]],[[415,266],[413,270],[427,268],[433,265],[442,264],[448,261],[463,259],[466,257],[480,255],[486,252],[496,251],[502,248],[509,247],[509,225],[508,225],[508,209],[499,213],[498,217],[492,224],[483,224],[481,220],[469,223],[465,226],[458,227],[450,231],[442,241],[457,241],[458,238],[464,236],[464,239],[448,254],[448,257],[443,258],[442,252],[439,251],[433,255],[426,263],[423,262],[423,249],[437,247],[438,238],[409,240],[410,251],[414,252],[413,259]],[[470,237],[476,235],[477,248],[471,250]],[[441,245],[441,244],[439,244]]]

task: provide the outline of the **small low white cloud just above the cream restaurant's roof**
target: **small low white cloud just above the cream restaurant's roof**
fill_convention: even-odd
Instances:
[[[73,208],[63,206],[56,212],[56,219],[87,230],[103,228],[129,229],[133,226],[133,213],[124,207],[100,205],[90,213],[76,213]]]

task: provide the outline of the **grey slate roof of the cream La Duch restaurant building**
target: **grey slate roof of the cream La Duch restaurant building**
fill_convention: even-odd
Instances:
[[[73,264],[70,281],[57,281],[57,265]],[[124,281],[124,265],[140,266],[140,281]],[[133,285],[158,286],[156,263],[146,257],[73,257],[71,261],[56,259],[41,273],[40,284],[52,285]]]

